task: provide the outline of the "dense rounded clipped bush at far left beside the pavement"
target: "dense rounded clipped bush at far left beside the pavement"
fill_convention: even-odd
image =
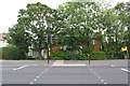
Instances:
[[[17,60],[20,57],[20,49],[16,46],[2,47],[2,59]]]

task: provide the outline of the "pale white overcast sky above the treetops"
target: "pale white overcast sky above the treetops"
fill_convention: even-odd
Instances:
[[[26,9],[27,3],[41,2],[50,8],[56,9],[67,0],[1,0],[0,1],[0,33],[8,32],[8,28],[16,24],[20,9]],[[116,4],[117,2],[128,2],[129,0],[106,0]]]

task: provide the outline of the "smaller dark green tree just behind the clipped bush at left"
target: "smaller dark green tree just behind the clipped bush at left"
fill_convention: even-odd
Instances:
[[[25,31],[23,25],[16,24],[9,29],[9,34],[6,37],[8,43],[16,45],[20,48],[20,57],[25,54],[27,56],[28,46],[30,46],[31,37]]]

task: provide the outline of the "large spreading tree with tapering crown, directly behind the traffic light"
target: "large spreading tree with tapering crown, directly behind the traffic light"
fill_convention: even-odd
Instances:
[[[40,2],[27,4],[27,10],[20,10],[18,24],[24,25],[26,31],[31,34],[31,44],[38,51],[40,59],[41,51],[50,44],[50,41],[44,43],[44,35],[50,37],[58,31],[55,17],[56,10]]]

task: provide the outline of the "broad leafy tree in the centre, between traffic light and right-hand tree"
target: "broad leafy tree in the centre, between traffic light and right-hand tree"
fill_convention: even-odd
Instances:
[[[60,16],[63,25],[61,42],[72,51],[80,49],[81,45],[91,46],[93,29],[96,28],[99,6],[95,2],[67,2],[60,5]]]

